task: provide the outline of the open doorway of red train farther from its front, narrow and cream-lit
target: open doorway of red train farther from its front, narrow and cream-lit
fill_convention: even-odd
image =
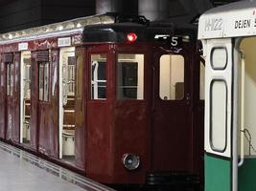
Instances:
[[[20,65],[20,143],[30,143],[31,52],[21,53]]]

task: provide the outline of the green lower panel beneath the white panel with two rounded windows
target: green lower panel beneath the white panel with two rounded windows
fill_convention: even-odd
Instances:
[[[205,191],[231,191],[231,161],[204,156]]]

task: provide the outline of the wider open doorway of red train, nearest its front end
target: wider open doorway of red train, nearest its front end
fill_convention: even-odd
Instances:
[[[75,162],[75,47],[59,52],[59,159]]]

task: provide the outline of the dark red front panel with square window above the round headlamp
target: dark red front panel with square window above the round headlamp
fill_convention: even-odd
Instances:
[[[115,79],[116,103],[114,108],[114,171],[115,182],[127,180],[139,183],[146,180],[150,169],[151,139],[151,49],[149,45],[117,44]],[[124,165],[128,155],[140,160],[136,169]],[[136,164],[134,164],[135,166]]]

